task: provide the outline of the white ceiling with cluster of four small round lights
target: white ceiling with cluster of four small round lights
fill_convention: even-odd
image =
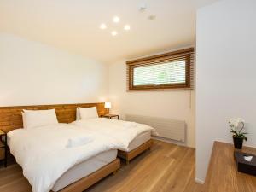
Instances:
[[[0,0],[0,32],[110,63],[195,44],[195,10],[215,1]],[[148,8],[141,13],[144,2]],[[114,15],[119,24],[113,24]],[[100,30],[102,22],[119,35],[112,37],[109,27]],[[122,30],[126,23],[130,32]]]

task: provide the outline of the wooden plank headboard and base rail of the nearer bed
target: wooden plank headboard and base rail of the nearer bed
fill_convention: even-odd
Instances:
[[[15,107],[0,107],[0,129],[9,132],[23,127],[21,111],[23,109],[29,110],[44,110],[55,109],[57,119],[60,123],[71,123],[76,119],[76,108],[97,108],[100,115],[107,113],[104,108],[104,103],[79,103],[79,104],[59,104],[59,105],[37,105],[37,106],[15,106]],[[81,178],[79,181],[68,185],[61,189],[60,192],[82,192],[88,189],[91,185],[108,176],[110,173],[115,173],[120,167],[120,160],[117,158],[106,166],[89,176]]]

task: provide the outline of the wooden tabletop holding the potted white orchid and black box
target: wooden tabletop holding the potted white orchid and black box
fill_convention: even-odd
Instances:
[[[242,152],[256,154],[256,148],[244,147]],[[215,142],[209,164],[206,192],[255,192],[256,177],[237,172],[234,147],[229,143]]]

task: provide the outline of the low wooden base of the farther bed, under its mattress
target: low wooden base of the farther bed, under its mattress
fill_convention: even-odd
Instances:
[[[126,160],[126,165],[130,163],[130,160],[137,157],[137,155],[142,154],[145,150],[150,149],[153,145],[153,139],[148,140],[148,142],[143,143],[139,147],[131,150],[130,152],[126,151],[118,151],[118,156],[124,160]]]

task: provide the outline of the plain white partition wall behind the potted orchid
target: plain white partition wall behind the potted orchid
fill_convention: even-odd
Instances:
[[[256,146],[256,1],[199,9],[196,34],[196,179],[204,181],[214,140],[232,143],[228,120],[247,121]]]

